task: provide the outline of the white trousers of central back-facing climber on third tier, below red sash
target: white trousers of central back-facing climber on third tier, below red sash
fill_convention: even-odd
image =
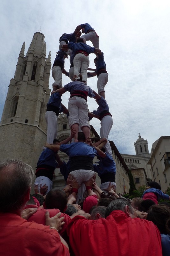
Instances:
[[[75,55],[74,60],[74,76],[76,79],[80,79],[80,69],[82,75],[82,81],[87,82],[87,69],[89,68],[89,57],[85,56],[83,53],[78,53]]]

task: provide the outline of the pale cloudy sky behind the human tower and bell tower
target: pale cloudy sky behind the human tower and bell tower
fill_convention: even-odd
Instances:
[[[135,155],[139,132],[151,151],[155,140],[170,135],[169,0],[2,0],[0,116],[23,42],[26,54],[34,33],[41,30],[53,64],[59,37],[81,23],[95,28],[104,52],[109,74],[105,95],[114,120],[109,140],[120,153]],[[95,68],[94,58],[89,56],[91,68]],[[69,60],[65,68],[68,71]],[[63,84],[69,82],[64,75]],[[51,75],[51,89],[52,83]],[[97,78],[89,78],[87,84],[96,90]],[[66,106],[68,97],[65,93],[62,100]],[[97,108],[95,100],[88,102],[90,111]],[[90,124],[100,134],[100,121]]]

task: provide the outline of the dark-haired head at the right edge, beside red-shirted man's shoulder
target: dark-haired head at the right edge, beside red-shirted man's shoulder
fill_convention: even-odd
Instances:
[[[146,216],[159,229],[161,234],[170,234],[170,208],[164,205],[152,205]]]

